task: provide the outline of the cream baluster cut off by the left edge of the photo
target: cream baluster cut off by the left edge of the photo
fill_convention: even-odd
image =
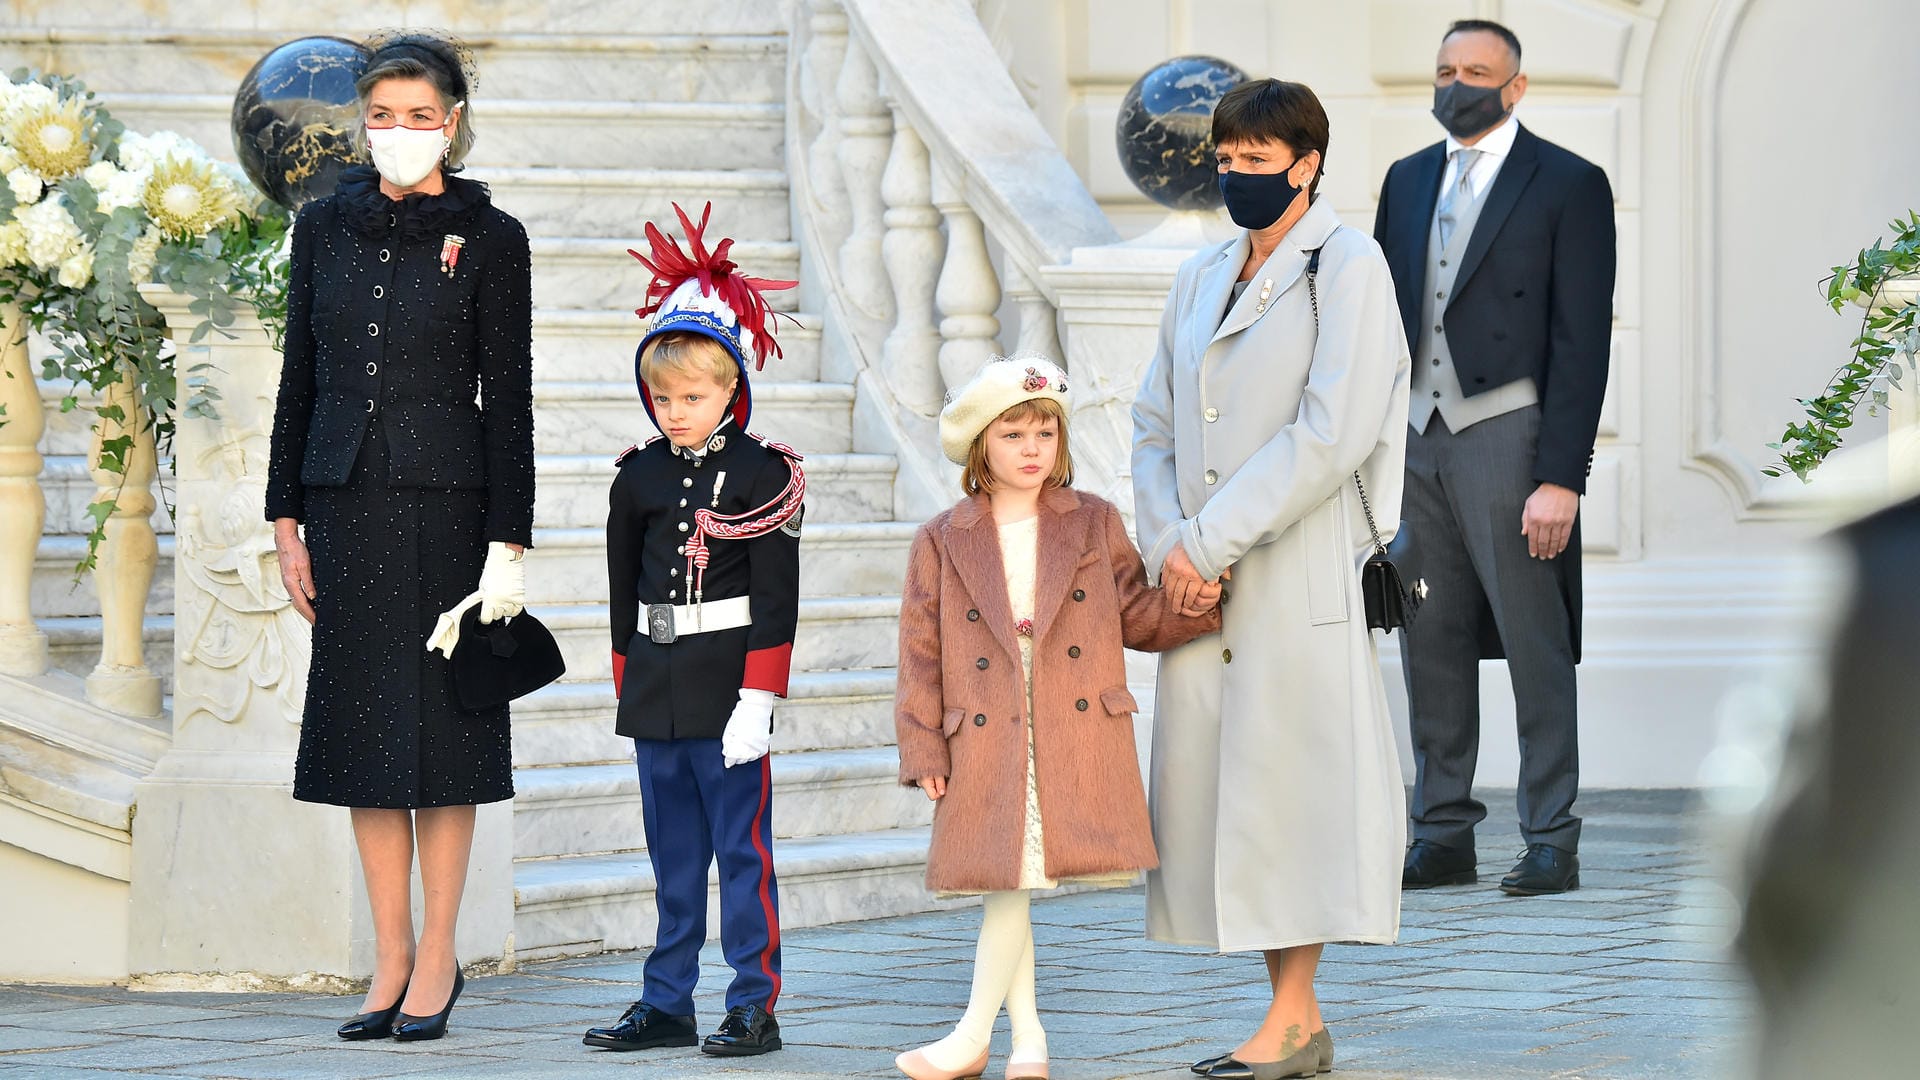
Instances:
[[[46,525],[40,434],[46,413],[27,356],[19,304],[0,306],[0,675],[46,673],[46,634],[33,621],[33,557]]]

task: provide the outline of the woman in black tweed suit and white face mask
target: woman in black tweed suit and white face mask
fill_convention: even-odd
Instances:
[[[474,805],[513,798],[507,707],[463,713],[428,640],[451,653],[436,617],[524,603],[532,282],[526,231],[451,175],[472,144],[461,50],[371,44],[357,88],[376,167],[294,225],[267,519],[313,623],[294,798],[353,807],[374,919],[372,986],[340,1036],[409,1040],[440,1038],[459,997]]]

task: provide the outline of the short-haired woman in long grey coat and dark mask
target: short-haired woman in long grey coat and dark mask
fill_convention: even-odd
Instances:
[[[1380,248],[1313,194],[1327,154],[1313,92],[1240,85],[1213,142],[1244,233],[1181,267],[1133,407],[1148,573],[1175,600],[1229,580],[1221,632],[1160,661],[1146,930],[1265,953],[1265,1022],[1194,1068],[1269,1080],[1332,1067],[1321,945],[1400,928],[1405,805],[1359,594],[1371,536],[1356,471],[1390,536],[1409,357]]]

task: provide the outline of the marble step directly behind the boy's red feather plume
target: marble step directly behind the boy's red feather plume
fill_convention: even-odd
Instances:
[[[691,208],[689,213],[699,213],[699,208]],[[699,219],[695,217],[695,221]],[[630,229],[634,234],[628,238],[536,238],[534,304],[540,307],[611,307],[626,317],[628,329],[637,325],[634,309],[647,300],[647,282],[653,281],[653,273],[628,254],[630,248],[647,254],[643,223],[630,223]],[[674,233],[678,234],[680,231],[674,229]],[[712,236],[712,240],[718,242],[720,234]],[[801,248],[791,242],[733,244],[730,258],[753,277],[795,281],[801,273]],[[768,292],[766,302],[776,311],[793,311],[801,302],[801,292],[797,288]],[[793,348],[787,342],[789,332],[793,332],[793,323],[781,319],[774,336],[787,356],[780,361],[770,359],[770,365],[793,365]],[[634,336],[637,338],[637,334]],[[630,363],[632,354],[634,348],[628,344],[626,357]]]

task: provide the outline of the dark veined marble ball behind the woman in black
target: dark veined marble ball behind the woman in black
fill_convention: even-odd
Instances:
[[[336,37],[290,40],[240,81],[234,94],[234,154],[267,198],[288,208],[334,192],[355,161],[359,108],[353,81],[367,50]]]

